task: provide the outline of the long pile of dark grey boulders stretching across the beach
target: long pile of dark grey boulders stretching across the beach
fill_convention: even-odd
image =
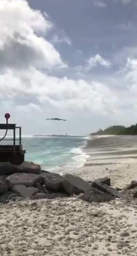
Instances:
[[[137,186],[136,181],[131,184],[126,189]],[[54,199],[72,194],[80,194],[79,198],[88,202],[106,202],[116,197],[121,198],[121,192],[110,185],[107,177],[86,182],[71,174],[62,177],[57,173],[43,171],[33,162],[24,162],[20,166],[0,163],[0,202],[24,198]],[[137,191],[134,193],[134,198],[136,197]]]

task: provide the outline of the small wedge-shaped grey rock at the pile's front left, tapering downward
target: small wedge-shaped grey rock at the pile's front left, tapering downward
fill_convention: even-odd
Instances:
[[[38,192],[38,189],[34,187],[27,188],[24,185],[15,185],[13,186],[12,191],[18,193],[23,198],[30,198],[32,195]]]

